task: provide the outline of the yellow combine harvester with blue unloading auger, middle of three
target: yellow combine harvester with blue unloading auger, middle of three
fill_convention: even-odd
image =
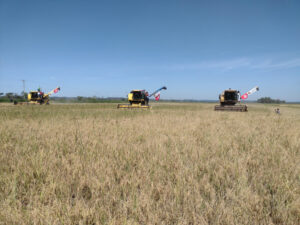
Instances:
[[[161,90],[167,90],[166,86],[163,86],[156,91],[154,91],[152,94],[148,94],[145,90],[132,90],[128,94],[128,102],[129,104],[118,104],[118,108],[144,108],[149,109],[149,98],[154,96],[155,100],[158,101],[160,99],[160,91]]]

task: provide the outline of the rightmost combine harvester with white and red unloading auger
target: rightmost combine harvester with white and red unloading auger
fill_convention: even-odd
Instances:
[[[219,95],[220,105],[215,106],[216,111],[238,111],[247,112],[247,105],[237,104],[240,103],[241,99],[247,99],[249,95],[258,91],[259,88],[256,86],[250,91],[246,92],[240,97],[240,92],[237,90],[225,90]]]

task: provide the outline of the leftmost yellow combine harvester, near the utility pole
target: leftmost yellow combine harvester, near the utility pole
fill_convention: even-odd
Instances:
[[[40,90],[37,91],[30,91],[27,95],[27,102],[16,102],[14,101],[15,105],[49,105],[50,95],[53,93],[57,93],[60,90],[60,87],[57,87],[50,91],[49,93],[45,94]]]

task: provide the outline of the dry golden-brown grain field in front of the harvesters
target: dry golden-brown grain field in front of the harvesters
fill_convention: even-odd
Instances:
[[[300,224],[300,105],[0,105],[0,224]]]

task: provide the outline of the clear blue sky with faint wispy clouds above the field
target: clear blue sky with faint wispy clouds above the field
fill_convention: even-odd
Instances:
[[[0,92],[300,100],[298,0],[0,0]]]

